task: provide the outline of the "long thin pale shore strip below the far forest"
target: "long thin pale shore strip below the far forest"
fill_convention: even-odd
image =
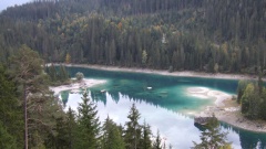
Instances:
[[[57,65],[57,64],[54,64],[54,65]],[[256,75],[222,74],[222,73],[212,74],[212,73],[193,72],[193,71],[168,73],[168,71],[161,71],[161,70],[136,68],[136,67],[130,68],[130,67],[90,65],[90,64],[64,64],[64,65],[73,66],[73,67],[89,67],[89,68],[104,70],[104,71],[115,71],[115,72],[122,71],[122,72],[158,74],[158,75],[168,75],[168,76],[224,78],[224,79],[257,79]]]

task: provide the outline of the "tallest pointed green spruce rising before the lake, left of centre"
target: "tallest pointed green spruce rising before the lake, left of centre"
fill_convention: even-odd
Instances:
[[[96,117],[96,105],[88,97],[85,92],[82,97],[83,103],[79,104],[78,111],[78,149],[95,149],[100,132],[100,121]]]

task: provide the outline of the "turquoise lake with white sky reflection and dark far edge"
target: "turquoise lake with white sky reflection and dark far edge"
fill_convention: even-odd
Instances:
[[[193,141],[200,141],[201,130],[194,126],[190,114],[214,105],[213,98],[191,96],[187,88],[207,87],[234,95],[238,82],[82,67],[68,67],[68,71],[71,76],[82,72],[86,78],[108,81],[90,88],[90,96],[98,105],[101,120],[110,116],[116,124],[124,125],[130,107],[135,103],[142,117],[139,123],[143,124],[145,120],[150,124],[154,135],[158,129],[166,147],[171,143],[174,149],[188,149],[193,147]],[[101,93],[103,89],[106,92]],[[81,94],[61,93],[61,98],[68,100],[66,106],[73,109],[78,107],[81,97]],[[228,132],[227,140],[235,149],[266,148],[266,134],[246,131],[224,123],[221,123],[221,130]]]

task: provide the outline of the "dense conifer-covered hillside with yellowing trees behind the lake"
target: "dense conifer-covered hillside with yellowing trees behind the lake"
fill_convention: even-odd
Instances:
[[[38,0],[0,14],[0,62],[27,44],[45,62],[254,73],[265,23],[266,0]]]

